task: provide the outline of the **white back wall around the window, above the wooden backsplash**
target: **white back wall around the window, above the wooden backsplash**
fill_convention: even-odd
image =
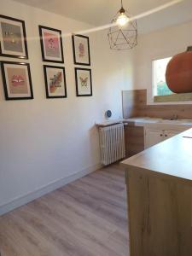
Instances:
[[[134,70],[136,89],[148,89],[151,99],[152,61],[183,52],[192,45],[192,21],[139,37]]]

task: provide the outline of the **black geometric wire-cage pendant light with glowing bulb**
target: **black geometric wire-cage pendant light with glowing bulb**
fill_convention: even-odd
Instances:
[[[108,31],[108,41],[111,49],[132,49],[137,45],[137,20],[131,20],[130,15],[123,7],[111,21]]]

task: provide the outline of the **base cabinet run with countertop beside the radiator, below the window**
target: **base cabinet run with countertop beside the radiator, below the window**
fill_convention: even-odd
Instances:
[[[126,157],[192,128],[192,119],[131,118],[125,121]]]

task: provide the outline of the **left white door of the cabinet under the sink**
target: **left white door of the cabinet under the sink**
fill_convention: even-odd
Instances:
[[[150,148],[164,139],[163,131],[156,129],[145,130],[145,148]]]

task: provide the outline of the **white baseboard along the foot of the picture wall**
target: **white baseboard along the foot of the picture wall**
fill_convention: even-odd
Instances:
[[[101,167],[102,167],[101,164],[98,164],[96,166],[90,166],[90,167],[88,167],[80,172],[77,172],[71,176],[64,177],[64,178],[56,180],[52,183],[49,183],[48,185],[46,185],[40,189],[37,189],[35,191],[32,191],[31,193],[29,193],[27,195],[23,195],[18,198],[15,198],[14,200],[9,201],[8,203],[0,206],[0,216],[7,212],[14,210],[15,208],[26,205],[26,203],[33,201],[33,200],[37,199],[38,197],[41,197],[42,195],[46,195],[49,192],[54,191],[55,189],[59,189],[65,185],[67,185],[67,183],[72,183],[73,181],[79,179],[80,177],[86,176],[90,172],[95,172],[96,170],[100,169]]]

